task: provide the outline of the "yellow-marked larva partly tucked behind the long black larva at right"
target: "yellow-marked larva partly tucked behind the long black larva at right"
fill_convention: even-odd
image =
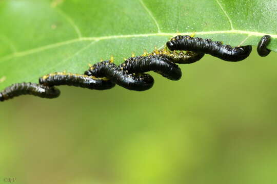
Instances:
[[[196,61],[199,61],[203,56],[205,55],[204,53],[196,53],[196,52],[190,52],[187,51],[186,53],[184,52],[176,52],[176,51],[169,51],[167,49],[160,49],[157,50],[155,49],[150,55],[153,56],[163,56],[169,59],[170,61],[174,63],[179,63],[179,64],[191,64]]]

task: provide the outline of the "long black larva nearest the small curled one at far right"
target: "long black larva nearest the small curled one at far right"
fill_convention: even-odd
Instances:
[[[167,47],[173,50],[192,51],[210,54],[225,61],[241,61],[247,58],[251,51],[251,45],[232,48],[230,45],[223,45],[220,41],[190,37],[188,35],[173,37],[167,43]]]

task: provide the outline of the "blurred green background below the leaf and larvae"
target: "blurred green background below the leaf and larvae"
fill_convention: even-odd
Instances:
[[[277,54],[206,55],[152,89],[0,104],[0,183],[275,183]]]

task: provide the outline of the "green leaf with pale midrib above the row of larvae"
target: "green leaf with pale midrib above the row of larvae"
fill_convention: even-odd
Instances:
[[[232,46],[270,34],[276,52],[276,10],[275,0],[0,0],[0,89],[52,72],[82,74],[111,55],[121,63],[176,34]]]

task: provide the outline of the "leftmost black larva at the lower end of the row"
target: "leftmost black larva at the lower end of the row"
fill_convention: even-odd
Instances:
[[[60,90],[55,87],[48,87],[36,83],[16,83],[5,88],[0,92],[0,101],[12,99],[21,95],[33,95],[41,98],[57,98],[60,96]]]

